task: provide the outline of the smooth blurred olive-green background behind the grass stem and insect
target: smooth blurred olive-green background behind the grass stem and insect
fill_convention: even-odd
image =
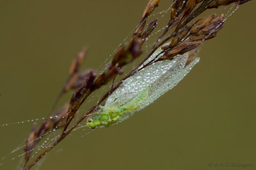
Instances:
[[[0,123],[45,117],[76,53],[88,45],[83,68],[99,68],[147,2],[0,1]],[[169,4],[162,0],[158,11]],[[255,1],[241,6],[177,87],[121,124],[73,132],[40,169],[256,169],[255,14]],[[19,154],[8,153],[31,125],[0,127],[0,169],[19,167]]]

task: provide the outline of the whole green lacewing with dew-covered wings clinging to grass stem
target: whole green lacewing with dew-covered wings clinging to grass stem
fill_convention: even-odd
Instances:
[[[161,52],[159,48],[144,64]],[[173,60],[163,60],[141,69],[127,78],[107,99],[94,118],[87,122],[88,127],[108,127],[131,117],[158,97],[172,89],[199,62],[196,57],[186,65],[188,53],[177,55]],[[159,55],[161,57],[161,55]]]

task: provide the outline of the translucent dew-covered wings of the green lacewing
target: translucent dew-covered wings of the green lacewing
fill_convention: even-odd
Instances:
[[[160,51],[158,50],[157,53],[159,52]],[[154,55],[156,56],[157,53]],[[111,106],[113,104],[116,105],[117,103],[128,103],[147,88],[147,99],[143,99],[136,110],[122,115],[118,122],[131,117],[133,113],[145,108],[165,92],[175,87],[175,85],[177,85],[177,83],[179,83],[179,81],[189,73],[200,59],[197,57],[188,64],[188,66],[186,66],[187,60],[188,53],[184,53],[183,55],[177,55],[173,60],[156,62],[155,64],[145,67],[145,69],[142,69],[130,78],[127,78],[127,80],[122,83],[122,86],[116,89],[115,92],[109,96],[105,106]],[[146,62],[148,62],[148,60]]]

